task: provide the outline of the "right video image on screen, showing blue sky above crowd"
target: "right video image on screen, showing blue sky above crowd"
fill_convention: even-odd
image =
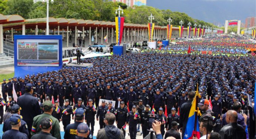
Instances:
[[[38,60],[58,60],[58,43],[38,43]]]

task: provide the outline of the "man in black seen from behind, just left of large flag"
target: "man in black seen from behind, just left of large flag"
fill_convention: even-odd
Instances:
[[[195,95],[196,95],[195,91],[190,91],[188,93],[188,101],[181,105],[180,116],[179,116],[179,125],[181,127],[180,132],[182,132],[182,135],[181,135],[182,139],[183,139],[183,136],[185,133],[186,124],[188,122],[189,111],[192,106],[192,101],[193,101],[193,98],[195,97]]]

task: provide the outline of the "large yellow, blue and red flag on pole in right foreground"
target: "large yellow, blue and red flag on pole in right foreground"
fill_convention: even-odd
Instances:
[[[200,96],[198,92],[196,93],[197,96]],[[197,108],[198,109],[198,108]],[[196,119],[195,119],[196,118]],[[195,120],[196,120],[196,129],[195,128]],[[198,117],[196,116],[196,97],[192,101],[192,106],[189,111],[188,115],[188,122],[184,133],[184,139],[192,139],[193,136],[196,135],[196,137],[200,138],[200,132],[199,132],[199,125],[198,125]]]

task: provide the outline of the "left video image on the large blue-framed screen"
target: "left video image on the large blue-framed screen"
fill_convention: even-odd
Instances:
[[[19,60],[37,60],[37,43],[18,43]]]

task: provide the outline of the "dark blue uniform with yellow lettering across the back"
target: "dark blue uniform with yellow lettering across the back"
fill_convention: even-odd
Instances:
[[[67,125],[67,128],[65,130],[64,139],[75,139],[75,136],[77,135],[77,126],[82,122],[71,123]],[[87,136],[87,139],[92,139],[92,133],[91,129],[89,128],[90,134]]]

